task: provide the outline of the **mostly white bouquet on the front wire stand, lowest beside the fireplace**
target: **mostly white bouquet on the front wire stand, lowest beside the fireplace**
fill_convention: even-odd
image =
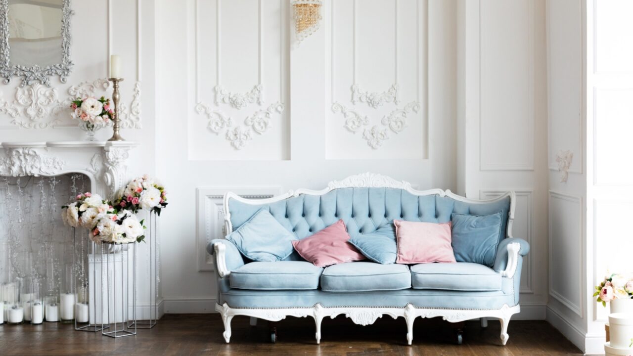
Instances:
[[[145,238],[143,220],[139,221],[130,210],[108,213],[101,217],[92,229],[92,241],[96,243],[133,243]]]

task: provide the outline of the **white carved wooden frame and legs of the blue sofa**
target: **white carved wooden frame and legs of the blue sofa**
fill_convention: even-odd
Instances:
[[[411,187],[409,182],[404,181],[396,181],[390,177],[386,177],[384,175],[377,174],[360,174],[353,175],[348,177],[342,181],[333,181],[330,182],[327,188],[314,191],[310,189],[298,189],[296,191],[289,191],[285,194],[281,194],[279,196],[275,196],[273,198],[268,199],[260,199],[260,200],[249,200],[245,198],[241,198],[237,194],[227,193],[224,196],[224,212],[225,212],[225,233],[230,234],[233,231],[232,223],[230,221],[230,210],[229,210],[229,200],[235,199],[248,204],[265,204],[265,203],[273,203],[275,201],[284,200],[286,198],[299,196],[300,194],[310,194],[310,195],[323,195],[332,191],[333,189],[338,188],[398,188],[404,189],[411,194],[415,194],[418,196],[423,195],[431,195],[437,194],[439,196],[448,196],[449,198],[453,198],[454,200],[463,201],[466,203],[492,203],[494,201],[499,201],[510,196],[510,211],[508,217],[508,227],[507,227],[507,237],[512,237],[512,223],[514,220],[514,212],[515,212],[515,193],[510,191],[506,194],[498,198],[494,198],[491,200],[472,200],[468,198],[464,198],[463,196],[458,196],[452,193],[450,190],[442,191],[441,189],[430,189],[426,191],[418,191]],[[216,272],[220,278],[228,278],[230,275],[230,270],[227,269],[227,265],[225,262],[225,248],[226,246],[222,243],[215,243],[213,245],[213,251],[215,255],[215,267]],[[515,275],[517,270],[518,260],[519,260],[519,243],[510,243],[507,245],[508,249],[508,262],[506,265],[506,269],[499,272],[502,277],[512,278]],[[220,291],[218,291],[218,294]],[[218,300],[220,300],[218,296]],[[517,314],[520,312],[520,305],[514,305],[512,307],[503,305],[503,307],[499,309],[487,309],[487,310],[470,310],[470,309],[442,309],[442,308],[418,308],[414,307],[411,304],[406,305],[402,308],[389,308],[389,307],[323,307],[320,303],[317,303],[313,307],[310,308],[231,308],[227,303],[223,303],[223,305],[218,305],[216,303],[215,310],[220,312],[222,315],[222,321],[224,323],[225,331],[223,333],[224,339],[227,343],[229,343],[231,337],[231,320],[235,315],[244,315],[253,318],[265,319],[267,321],[280,321],[285,319],[285,317],[313,317],[316,324],[316,343],[320,343],[321,340],[321,322],[324,317],[330,317],[334,319],[338,315],[345,315],[349,317],[355,324],[359,325],[369,325],[373,324],[377,319],[382,317],[383,315],[389,315],[392,318],[396,319],[398,317],[403,317],[406,321],[407,333],[406,340],[408,345],[411,345],[413,342],[413,321],[417,317],[422,318],[433,318],[433,317],[442,317],[445,321],[449,322],[462,322],[468,321],[471,319],[481,319],[482,326],[486,326],[487,319],[499,319],[501,322],[501,343],[506,345],[508,342],[508,323],[510,322],[510,318],[513,314]]]

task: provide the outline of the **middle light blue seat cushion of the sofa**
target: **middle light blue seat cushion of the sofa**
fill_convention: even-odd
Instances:
[[[330,292],[392,291],[411,288],[406,265],[348,262],[323,270],[321,289]]]

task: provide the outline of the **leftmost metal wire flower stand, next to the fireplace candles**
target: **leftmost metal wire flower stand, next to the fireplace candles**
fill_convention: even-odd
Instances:
[[[104,328],[108,329],[108,327],[110,326],[103,326],[103,323],[101,325],[97,324],[97,303],[99,304],[99,310],[103,310],[103,293],[101,293],[101,295],[97,295],[97,263],[96,263],[96,257],[97,257],[97,249],[96,249],[96,244],[94,242],[90,242],[88,243],[87,241],[87,236],[82,236],[80,237],[80,249],[79,249],[79,254],[81,256],[80,258],[80,268],[85,268],[84,265],[84,257],[88,257],[90,255],[90,248],[89,246],[92,246],[92,283],[87,283],[88,284],[88,321],[87,322],[79,322],[77,321],[78,319],[78,307],[79,305],[77,305],[77,307],[75,307],[75,330],[78,331],[91,331],[92,333],[96,333],[97,331],[102,331]],[[77,234],[75,232],[75,227],[73,227],[73,266],[77,267]],[[88,274],[90,274],[90,269],[88,269]],[[89,279],[89,276],[86,276],[87,279]],[[84,281],[85,282],[85,281]],[[73,293],[77,293],[77,286],[75,285],[76,280],[73,279]],[[85,285],[82,286],[82,288],[85,288]],[[103,288],[102,288],[103,289]],[[90,303],[90,296],[92,296],[92,303]],[[97,296],[99,296],[98,302],[97,302]],[[91,305],[92,304],[92,305]],[[92,315],[94,315],[94,323],[90,322],[90,307],[92,306]],[[103,318],[103,312],[101,312],[101,317]]]

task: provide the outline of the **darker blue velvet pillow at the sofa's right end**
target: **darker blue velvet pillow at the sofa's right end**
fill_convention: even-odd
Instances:
[[[501,234],[501,212],[491,215],[451,215],[451,245],[457,262],[492,267]]]

